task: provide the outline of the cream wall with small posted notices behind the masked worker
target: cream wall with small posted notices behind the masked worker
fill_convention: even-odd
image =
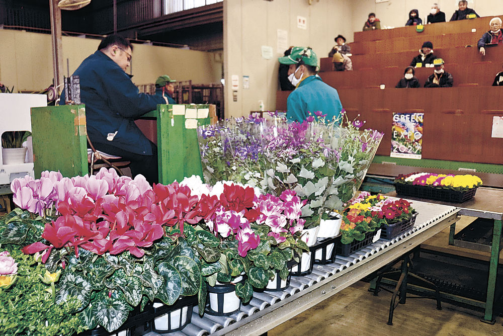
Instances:
[[[224,0],[225,116],[242,116],[259,109],[276,108],[278,90],[277,30],[288,32],[287,46],[311,46],[326,57],[338,34],[353,39],[352,0]],[[297,16],[306,18],[306,29],[297,27]],[[273,57],[264,59],[262,46],[273,48]],[[231,75],[238,75],[237,101],[233,101]],[[243,89],[242,76],[249,76]]]

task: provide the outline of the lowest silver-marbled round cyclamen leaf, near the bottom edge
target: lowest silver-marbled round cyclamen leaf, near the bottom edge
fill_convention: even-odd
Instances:
[[[100,292],[94,301],[93,313],[98,324],[108,332],[117,330],[129,315],[129,305],[121,295],[114,293],[111,297],[106,292]]]

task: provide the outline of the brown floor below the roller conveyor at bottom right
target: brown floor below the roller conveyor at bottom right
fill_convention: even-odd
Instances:
[[[369,284],[357,282],[311,309],[268,332],[269,336],[387,335],[387,336],[483,336],[501,335],[502,318],[496,324],[480,322],[481,313],[442,303],[436,310],[431,299],[408,299],[398,305],[393,325],[387,325],[391,294],[368,292]]]

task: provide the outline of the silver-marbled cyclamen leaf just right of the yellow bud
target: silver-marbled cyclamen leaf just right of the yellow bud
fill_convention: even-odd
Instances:
[[[68,296],[75,296],[86,307],[91,299],[93,287],[91,283],[79,274],[64,273],[58,282],[59,291],[56,293],[56,303],[66,301]]]

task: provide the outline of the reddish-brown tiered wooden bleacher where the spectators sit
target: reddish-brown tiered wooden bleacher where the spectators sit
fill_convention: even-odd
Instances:
[[[491,18],[426,25],[422,33],[415,27],[356,32],[354,70],[331,71],[331,59],[321,58],[319,75],[338,90],[350,118],[361,114],[366,128],[384,132],[377,155],[390,154],[393,112],[424,112],[423,158],[503,164],[503,138],[491,137],[493,116],[503,116],[503,88],[491,87],[502,70],[503,45],[486,48],[485,56],[477,48]],[[424,41],[445,60],[454,87],[395,89]],[[415,69],[421,87],[432,73]],[[278,110],[286,110],[289,94],[278,91]]]

